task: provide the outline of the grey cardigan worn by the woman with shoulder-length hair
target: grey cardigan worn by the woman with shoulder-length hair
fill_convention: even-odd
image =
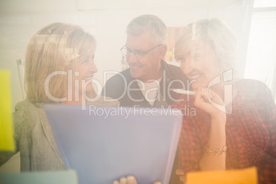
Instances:
[[[102,97],[95,105],[106,105]],[[117,105],[113,102],[108,105]],[[24,100],[13,113],[15,152],[0,152],[0,165],[20,151],[21,171],[65,170],[43,103]]]

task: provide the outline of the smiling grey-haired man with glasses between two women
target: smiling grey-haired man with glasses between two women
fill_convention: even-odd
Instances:
[[[157,16],[141,15],[130,21],[126,34],[121,51],[129,68],[110,78],[102,95],[119,100],[121,106],[169,106],[179,97],[172,90],[186,89],[187,77],[163,60],[165,24]]]

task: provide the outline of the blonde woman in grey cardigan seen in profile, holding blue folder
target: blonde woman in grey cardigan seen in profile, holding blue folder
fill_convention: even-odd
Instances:
[[[65,169],[44,104],[106,104],[92,85],[95,46],[93,36],[65,23],[47,25],[32,37],[25,58],[26,100],[16,104],[13,115],[21,171]],[[16,152],[1,152],[0,165]]]

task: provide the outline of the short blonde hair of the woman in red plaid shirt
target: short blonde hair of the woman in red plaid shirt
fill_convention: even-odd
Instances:
[[[214,49],[222,71],[235,70],[238,49],[236,36],[220,19],[203,19],[184,27],[174,49],[176,60],[198,41],[204,41]]]

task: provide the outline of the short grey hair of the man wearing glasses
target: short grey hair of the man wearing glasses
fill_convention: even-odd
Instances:
[[[167,27],[158,16],[152,14],[137,16],[126,27],[126,34],[132,36],[139,36],[148,31],[150,31],[155,44],[166,43]]]

